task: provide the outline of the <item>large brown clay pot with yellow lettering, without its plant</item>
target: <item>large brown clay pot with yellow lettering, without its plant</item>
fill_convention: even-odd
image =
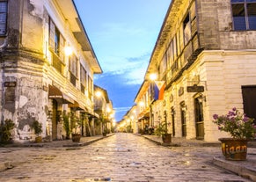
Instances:
[[[247,156],[247,140],[234,138],[220,138],[223,156],[227,160],[243,161]]]

